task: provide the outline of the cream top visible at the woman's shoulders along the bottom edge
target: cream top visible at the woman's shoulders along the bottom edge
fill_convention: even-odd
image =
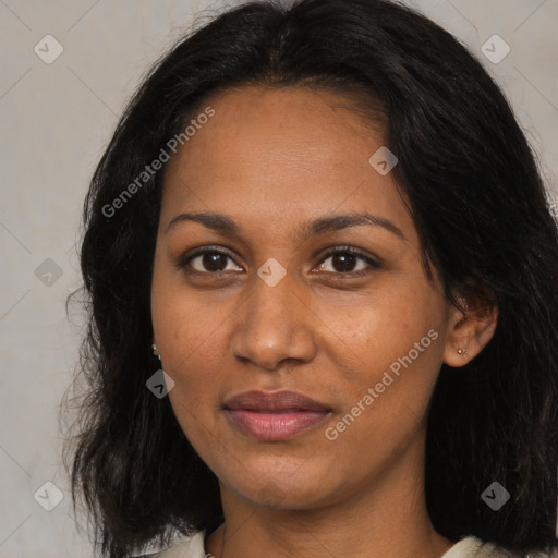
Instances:
[[[487,543],[482,549],[481,545],[482,542],[478,538],[468,536],[456,543],[440,558],[508,558],[511,556],[504,548],[492,543]],[[204,531],[199,531],[187,541],[153,555],[153,558],[211,558],[211,555],[206,555]]]

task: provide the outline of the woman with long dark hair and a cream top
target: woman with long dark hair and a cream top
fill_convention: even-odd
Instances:
[[[68,449],[101,554],[556,545],[556,223],[499,88],[433,22],[230,10],[146,77],[84,218]]]

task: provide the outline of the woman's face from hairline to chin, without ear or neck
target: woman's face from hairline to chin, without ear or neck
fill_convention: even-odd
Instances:
[[[327,92],[246,87],[208,105],[166,172],[153,275],[181,427],[255,504],[420,483],[454,308],[424,274],[385,154],[368,160],[380,134]]]

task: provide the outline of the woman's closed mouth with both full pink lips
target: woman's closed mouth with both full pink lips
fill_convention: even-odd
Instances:
[[[226,401],[227,417],[242,433],[266,441],[284,440],[315,428],[331,409],[294,391],[246,391]]]

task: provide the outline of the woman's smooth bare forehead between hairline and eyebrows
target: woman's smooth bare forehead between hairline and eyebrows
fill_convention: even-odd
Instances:
[[[355,110],[354,97],[244,87],[209,97],[198,112],[207,107],[215,114],[197,124],[168,165],[161,223],[180,210],[246,220],[280,215],[286,227],[298,218],[371,210],[411,233],[391,174],[368,161],[384,145],[381,130]]]

